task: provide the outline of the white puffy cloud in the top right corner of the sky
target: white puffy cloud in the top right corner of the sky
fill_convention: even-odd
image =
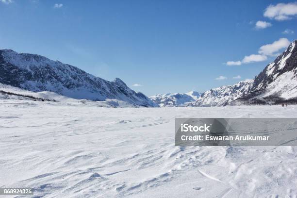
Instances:
[[[264,12],[264,16],[280,21],[291,19],[294,15],[297,15],[297,2],[269,5]]]

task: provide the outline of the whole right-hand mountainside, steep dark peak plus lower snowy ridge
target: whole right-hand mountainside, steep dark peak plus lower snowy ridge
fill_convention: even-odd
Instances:
[[[297,41],[268,64],[253,80],[204,92],[187,106],[225,106],[297,102]]]

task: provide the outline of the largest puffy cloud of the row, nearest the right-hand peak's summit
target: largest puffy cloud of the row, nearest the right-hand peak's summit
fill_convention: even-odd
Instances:
[[[289,45],[290,41],[287,38],[280,38],[272,44],[262,46],[258,52],[263,55],[274,56],[275,52],[278,52],[280,49],[287,48]]]

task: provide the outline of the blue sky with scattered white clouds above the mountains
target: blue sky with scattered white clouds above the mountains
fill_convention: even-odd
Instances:
[[[251,79],[296,33],[295,1],[0,0],[0,49],[118,77],[148,96]]]

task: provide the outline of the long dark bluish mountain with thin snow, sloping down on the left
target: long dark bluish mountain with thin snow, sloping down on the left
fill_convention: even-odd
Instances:
[[[109,82],[75,66],[11,49],[0,50],[0,82],[33,92],[55,92],[74,99],[117,99],[137,106],[158,106],[118,78]]]

